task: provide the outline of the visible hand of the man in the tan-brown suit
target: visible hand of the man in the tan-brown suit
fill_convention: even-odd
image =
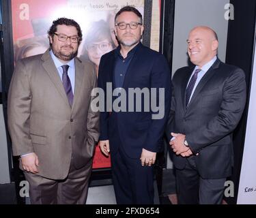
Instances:
[[[31,173],[39,172],[38,171],[38,166],[39,166],[38,155],[35,155],[35,153],[30,153],[20,158],[21,158],[23,170]]]

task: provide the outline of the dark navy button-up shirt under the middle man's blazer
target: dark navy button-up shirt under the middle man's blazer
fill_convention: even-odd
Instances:
[[[120,53],[120,46],[115,49],[115,88],[123,87],[124,77],[126,76],[127,69],[134,57],[134,53],[137,48],[141,46],[141,43],[137,44],[132,50],[127,54],[127,57],[124,59]]]

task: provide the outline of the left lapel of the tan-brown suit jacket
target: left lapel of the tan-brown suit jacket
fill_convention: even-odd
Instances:
[[[59,78],[59,74],[57,72],[56,66],[53,62],[53,59],[51,59],[51,55],[49,54],[49,50],[47,50],[44,55],[42,55],[42,60],[44,61],[42,63],[42,66],[46,70],[48,76],[51,78],[53,84],[55,84],[55,87],[57,91],[59,91],[61,97],[63,100],[70,106],[68,102],[68,97],[66,95],[65,89],[63,87],[63,84],[61,82],[61,78]]]

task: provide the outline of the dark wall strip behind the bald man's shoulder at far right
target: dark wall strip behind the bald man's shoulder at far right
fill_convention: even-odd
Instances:
[[[236,65],[244,70],[247,91],[249,93],[255,42],[256,1],[231,0],[230,3],[234,6],[234,20],[229,20],[226,63]],[[242,155],[244,151],[246,119],[248,114],[248,97],[249,96],[247,95],[246,108],[242,119],[233,134],[234,167],[233,175],[229,180],[234,183],[235,197],[226,199],[229,204],[236,204],[238,196]]]

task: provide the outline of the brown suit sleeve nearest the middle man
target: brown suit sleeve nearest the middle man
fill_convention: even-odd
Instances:
[[[94,74],[93,89],[96,89],[97,87],[96,72],[93,72],[93,74]],[[91,109],[91,102],[93,102],[95,98],[96,96],[91,96],[90,107],[89,107],[88,116],[87,116],[87,131],[88,131],[87,143],[89,143],[89,145],[95,145],[96,142],[98,142],[98,138],[99,138],[99,112],[95,112]]]

